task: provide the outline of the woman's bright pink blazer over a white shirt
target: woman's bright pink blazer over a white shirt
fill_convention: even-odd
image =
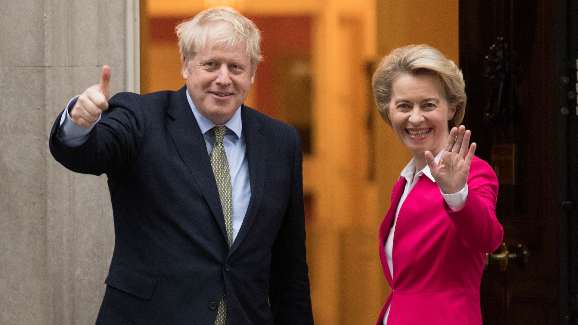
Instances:
[[[498,180],[490,165],[473,157],[464,208],[451,211],[439,187],[421,177],[399,210],[391,279],[384,243],[405,178],[395,183],[379,228],[379,257],[392,287],[377,324],[391,303],[387,325],[481,325],[480,282],[486,253],[502,242],[495,215]]]

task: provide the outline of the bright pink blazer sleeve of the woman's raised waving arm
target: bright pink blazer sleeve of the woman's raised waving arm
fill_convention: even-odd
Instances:
[[[458,235],[470,249],[491,253],[502,243],[503,228],[496,217],[498,179],[486,161],[474,157],[468,176],[468,198],[464,208],[452,211],[444,201],[447,214]]]

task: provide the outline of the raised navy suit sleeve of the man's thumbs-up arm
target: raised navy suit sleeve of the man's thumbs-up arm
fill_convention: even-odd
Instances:
[[[144,131],[144,115],[136,96],[119,93],[110,98],[109,109],[80,146],[66,146],[58,138],[58,116],[50,132],[54,158],[71,171],[92,175],[110,175],[128,168],[138,153]]]

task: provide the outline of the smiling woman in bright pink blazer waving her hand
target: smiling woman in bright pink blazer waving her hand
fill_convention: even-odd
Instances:
[[[481,325],[484,258],[503,230],[498,180],[460,125],[464,88],[454,62],[427,45],[393,50],[373,75],[380,115],[413,156],[379,230],[392,291],[377,324]]]

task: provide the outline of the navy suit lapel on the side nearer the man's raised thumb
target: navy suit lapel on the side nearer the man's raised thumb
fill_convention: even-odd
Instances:
[[[192,114],[191,106],[188,105],[186,91],[186,87],[181,88],[177,92],[176,98],[171,101],[171,106],[167,110],[168,117],[165,119],[166,131],[171,135],[188,171],[207,200],[224,238],[227,238],[223,208],[207,154],[205,138],[203,138],[201,128]]]

